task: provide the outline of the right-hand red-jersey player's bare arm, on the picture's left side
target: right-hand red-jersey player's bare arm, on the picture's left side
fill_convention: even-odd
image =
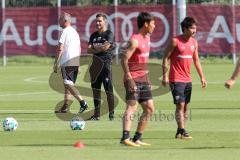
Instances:
[[[176,47],[176,40],[173,38],[172,41],[167,46],[164,56],[163,56],[163,62],[162,62],[162,85],[167,86],[169,84],[167,72],[168,72],[168,61],[170,59],[170,56]]]

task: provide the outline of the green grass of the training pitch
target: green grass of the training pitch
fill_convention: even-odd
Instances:
[[[45,60],[47,63],[41,62]],[[0,67],[0,120],[12,116],[19,122],[15,132],[0,131],[1,160],[239,159],[240,84],[237,83],[232,90],[223,87],[234,68],[231,63],[203,64],[209,82],[204,90],[193,69],[191,120],[187,123],[193,140],[173,138],[176,131],[171,117],[174,105],[168,93],[154,97],[156,118],[149,123],[143,136],[152,146],[128,148],[119,144],[121,116],[125,109],[122,100],[116,108],[115,121],[109,122],[106,116],[99,122],[87,121],[83,131],[72,131],[69,122],[61,121],[53,114],[63,95],[49,87],[52,60],[45,60],[37,58],[35,64],[12,62],[7,67]],[[89,88],[90,85],[83,82],[86,71],[87,66],[83,66],[77,83]],[[84,98],[90,106],[93,105],[91,97]],[[78,104],[74,101],[72,111],[77,110]],[[132,134],[135,128],[136,120]],[[78,140],[86,147],[74,148],[73,144]]]

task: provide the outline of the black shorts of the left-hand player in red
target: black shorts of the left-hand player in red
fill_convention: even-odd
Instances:
[[[139,103],[152,99],[151,86],[149,83],[136,82],[137,90],[135,92],[129,91],[128,82],[124,82],[126,89],[126,101],[136,100]]]

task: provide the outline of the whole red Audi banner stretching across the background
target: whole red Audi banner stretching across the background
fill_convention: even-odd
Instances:
[[[198,21],[197,40],[201,54],[227,54],[240,49],[240,12],[230,6],[188,5],[187,15]],[[235,7],[239,10],[240,7]],[[86,53],[90,34],[95,30],[95,14],[108,14],[109,28],[116,41],[127,41],[137,32],[136,16],[140,11],[149,11],[156,17],[156,28],[151,36],[152,51],[160,51],[176,33],[176,11],[172,5],[119,6],[114,7],[64,7],[70,13],[76,27],[83,54]],[[2,12],[0,12],[2,13]],[[5,10],[1,23],[0,45],[6,42],[7,55],[54,55],[58,41],[59,26],[57,8],[11,8]],[[236,22],[235,22],[236,21]],[[117,26],[117,27],[115,27]],[[2,50],[1,50],[2,51]],[[2,54],[2,53],[1,53]]]

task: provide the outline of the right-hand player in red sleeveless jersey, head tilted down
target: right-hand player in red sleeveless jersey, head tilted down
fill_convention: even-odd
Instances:
[[[168,45],[163,57],[163,86],[170,84],[174,104],[176,104],[176,121],[178,125],[175,138],[191,139],[192,137],[185,130],[185,122],[188,117],[188,103],[191,99],[192,80],[191,63],[201,80],[202,88],[207,86],[202,67],[198,57],[198,43],[193,38],[197,24],[192,17],[186,17],[181,22],[183,34],[174,37]],[[170,60],[169,78],[167,76],[168,61]]]

